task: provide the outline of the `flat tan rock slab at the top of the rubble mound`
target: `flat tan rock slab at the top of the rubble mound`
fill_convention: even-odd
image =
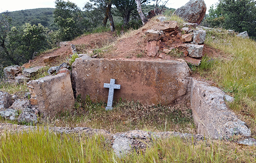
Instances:
[[[177,21],[163,21],[154,24],[151,29],[155,31],[172,32],[177,29]]]

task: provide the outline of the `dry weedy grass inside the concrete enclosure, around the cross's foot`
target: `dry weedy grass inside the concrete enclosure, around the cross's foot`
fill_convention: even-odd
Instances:
[[[79,101],[79,98],[78,98]],[[48,122],[56,126],[86,126],[105,129],[110,132],[124,132],[134,129],[195,133],[192,113],[185,105],[163,106],[143,105],[139,102],[119,101],[113,111],[105,111],[105,103],[76,102],[75,110],[59,115]]]

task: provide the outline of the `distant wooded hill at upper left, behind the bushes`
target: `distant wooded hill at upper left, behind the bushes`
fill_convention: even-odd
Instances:
[[[12,26],[21,26],[26,22],[31,24],[41,23],[50,30],[58,30],[54,23],[54,8],[39,8],[9,12],[12,17]]]

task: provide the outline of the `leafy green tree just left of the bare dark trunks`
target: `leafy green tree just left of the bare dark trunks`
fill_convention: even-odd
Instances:
[[[54,21],[59,27],[60,40],[72,40],[83,34],[87,21],[82,17],[82,12],[76,4],[62,0],[55,1]]]

